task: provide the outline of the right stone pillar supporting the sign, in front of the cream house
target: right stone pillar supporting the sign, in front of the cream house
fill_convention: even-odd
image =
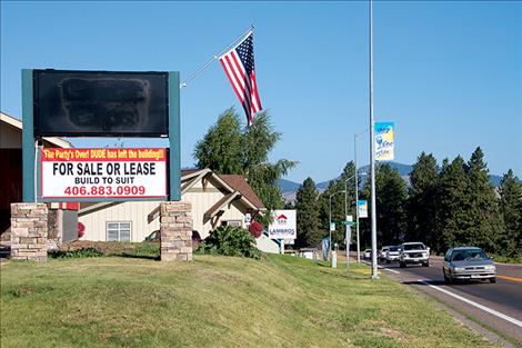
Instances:
[[[192,260],[192,206],[187,201],[162,202],[160,251],[162,261]]]

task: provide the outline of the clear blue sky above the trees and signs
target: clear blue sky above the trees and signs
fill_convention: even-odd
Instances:
[[[338,176],[369,127],[368,2],[2,1],[1,110],[21,118],[22,68],[183,79],[250,23],[261,101],[283,133],[272,159],[300,162],[290,180]],[[218,62],[181,91],[183,167],[231,106],[242,115]],[[375,1],[374,115],[395,122],[399,162],[468,160],[481,146],[492,173],[522,177],[522,2]],[[361,136],[361,165],[368,148]]]

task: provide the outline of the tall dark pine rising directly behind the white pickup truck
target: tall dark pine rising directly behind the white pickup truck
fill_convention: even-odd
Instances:
[[[425,242],[439,250],[436,229],[436,190],[439,185],[436,159],[422,152],[410,172],[410,188],[406,207],[408,240]]]

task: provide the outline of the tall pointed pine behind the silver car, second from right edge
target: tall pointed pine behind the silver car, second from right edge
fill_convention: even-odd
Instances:
[[[464,242],[473,243],[488,251],[502,252],[498,241],[505,231],[499,209],[495,190],[490,183],[490,175],[484,162],[484,153],[478,147],[465,166],[469,177],[468,199],[469,228]]]

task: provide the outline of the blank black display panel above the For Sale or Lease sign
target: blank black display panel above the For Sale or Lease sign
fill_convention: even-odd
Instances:
[[[34,70],[34,136],[168,136],[168,73]]]

